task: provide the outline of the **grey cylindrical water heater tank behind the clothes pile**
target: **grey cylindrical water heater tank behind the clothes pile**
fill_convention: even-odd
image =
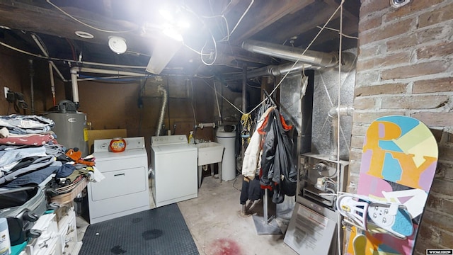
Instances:
[[[79,148],[82,157],[88,155],[88,132],[85,113],[49,113],[46,117],[55,122],[55,127],[52,131],[57,135],[57,142],[60,145],[67,149]]]

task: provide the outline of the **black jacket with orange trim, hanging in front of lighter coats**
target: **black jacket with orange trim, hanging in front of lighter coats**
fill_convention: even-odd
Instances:
[[[282,203],[286,196],[294,196],[297,186],[297,168],[293,162],[293,143],[289,137],[291,125],[274,109],[265,119],[259,132],[264,134],[261,157],[260,184],[272,186],[273,202]]]

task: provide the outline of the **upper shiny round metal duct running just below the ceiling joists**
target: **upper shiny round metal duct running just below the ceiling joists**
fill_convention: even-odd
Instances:
[[[336,53],[316,52],[313,50],[304,50],[299,47],[289,47],[257,40],[246,40],[242,42],[242,48],[270,57],[278,57],[282,60],[297,61],[318,67],[334,67],[338,64],[338,54]]]

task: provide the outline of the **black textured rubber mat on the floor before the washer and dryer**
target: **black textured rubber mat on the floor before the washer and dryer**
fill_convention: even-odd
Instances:
[[[79,255],[197,255],[176,203],[88,226]]]

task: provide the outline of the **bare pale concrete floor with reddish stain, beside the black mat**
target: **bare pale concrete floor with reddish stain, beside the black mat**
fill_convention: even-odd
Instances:
[[[283,242],[290,215],[274,220],[283,234],[258,235],[253,216],[242,217],[239,213],[241,187],[241,176],[222,183],[219,183],[219,179],[207,176],[198,190],[198,198],[178,203],[200,254],[297,254]],[[150,198],[151,208],[154,208],[154,200],[152,196]],[[269,215],[275,215],[272,205],[269,205]],[[263,203],[257,203],[252,212],[262,216]],[[88,223],[82,217],[77,217],[77,227],[81,240]]]

